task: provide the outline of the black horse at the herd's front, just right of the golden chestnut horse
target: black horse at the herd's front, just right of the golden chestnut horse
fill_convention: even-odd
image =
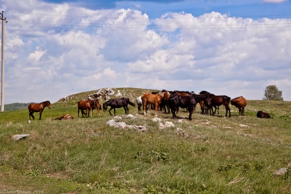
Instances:
[[[177,118],[176,111],[178,107],[188,109],[189,111],[189,120],[192,120],[192,114],[194,112],[194,108],[196,107],[196,100],[194,96],[180,96],[174,95],[172,98],[169,98],[168,103],[170,105],[170,109],[172,111],[173,118]]]

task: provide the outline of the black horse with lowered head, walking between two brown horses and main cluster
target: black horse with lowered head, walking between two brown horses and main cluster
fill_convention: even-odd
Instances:
[[[126,111],[126,114],[128,114],[128,104],[132,105],[132,107],[135,107],[135,104],[130,102],[128,98],[119,98],[119,99],[110,99],[106,103],[103,104],[103,111],[104,113],[107,110],[107,107],[109,106],[109,114],[112,116],[110,110],[114,109],[114,116],[115,116],[115,109],[124,107],[124,110]]]

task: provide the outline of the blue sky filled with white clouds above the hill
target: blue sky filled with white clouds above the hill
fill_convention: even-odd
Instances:
[[[5,104],[104,87],[291,100],[291,2],[0,0]]]

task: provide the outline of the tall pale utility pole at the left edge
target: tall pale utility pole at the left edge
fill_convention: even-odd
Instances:
[[[4,12],[0,14],[2,21],[2,39],[1,39],[1,112],[4,111],[4,24],[7,23]]]

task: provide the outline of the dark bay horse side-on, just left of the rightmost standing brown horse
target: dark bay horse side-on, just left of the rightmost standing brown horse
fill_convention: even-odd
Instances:
[[[213,111],[213,107],[219,110],[219,106],[224,105],[225,110],[226,110],[225,117],[227,116],[227,112],[229,112],[229,117],[231,117],[231,109],[229,108],[229,103],[231,103],[231,98],[229,96],[216,96],[214,94],[209,93],[208,91],[200,91],[199,94],[204,94],[207,96],[206,104],[207,104],[208,109],[210,109],[210,114],[212,111],[212,116],[216,114],[216,110]]]

